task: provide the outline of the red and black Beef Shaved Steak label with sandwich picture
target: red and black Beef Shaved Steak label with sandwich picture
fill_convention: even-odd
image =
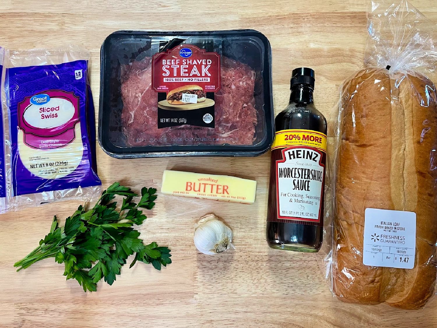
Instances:
[[[159,52],[152,59],[152,87],[158,93],[159,129],[214,128],[220,56],[194,45]]]

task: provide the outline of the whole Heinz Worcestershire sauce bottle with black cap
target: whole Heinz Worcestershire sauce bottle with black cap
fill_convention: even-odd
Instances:
[[[293,70],[290,89],[290,103],[275,119],[266,237],[271,248],[317,252],[323,239],[326,119],[313,104],[312,69]]]

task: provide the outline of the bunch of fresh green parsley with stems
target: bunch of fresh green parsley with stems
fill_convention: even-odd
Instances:
[[[64,276],[76,279],[85,292],[95,291],[102,277],[112,285],[129,255],[135,254],[131,268],[141,261],[160,270],[161,265],[171,263],[170,249],[158,247],[156,242],[143,244],[138,238],[140,233],[132,228],[146,220],[139,208],[152,209],[155,193],[154,188],[142,188],[137,204],[133,199],[139,195],[115,182],[102,193],[92,209],[79,206],[72,216],[66,218],[63,227],[59,227],[55,216],[49,234],[14,267],[19,267],[17,271],[20,271],[35,262],[54,257],[56,262],[64,263]],[[120,210],[117,202],[112,202],[116,195],[125,197]]]

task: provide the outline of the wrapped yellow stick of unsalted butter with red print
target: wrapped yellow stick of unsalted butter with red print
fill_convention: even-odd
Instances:
[[[227,175],[165,170],[161,192],[166,195],[252,204],[257,181]]]

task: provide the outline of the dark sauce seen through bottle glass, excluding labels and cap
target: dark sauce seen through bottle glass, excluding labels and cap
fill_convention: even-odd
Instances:
[[[312,88],[299,86],[293,90],[287,108],[276,116],[275,130],[305,129],[326,134],[326,119],[312,104]],[[326,161],[326,154],[324,154]],[[322,186],[322,199],[320,223],[304,223],[305,221],[282,220],[287,222],[271,222],[277,220],[276,196],[276,161],[282,158],[281,149],[272,151],[270,168],[270,187],[267,210],[267,243],[272,248],[316,252],[319,251],[323,241],[323,202],[324,185]]]

